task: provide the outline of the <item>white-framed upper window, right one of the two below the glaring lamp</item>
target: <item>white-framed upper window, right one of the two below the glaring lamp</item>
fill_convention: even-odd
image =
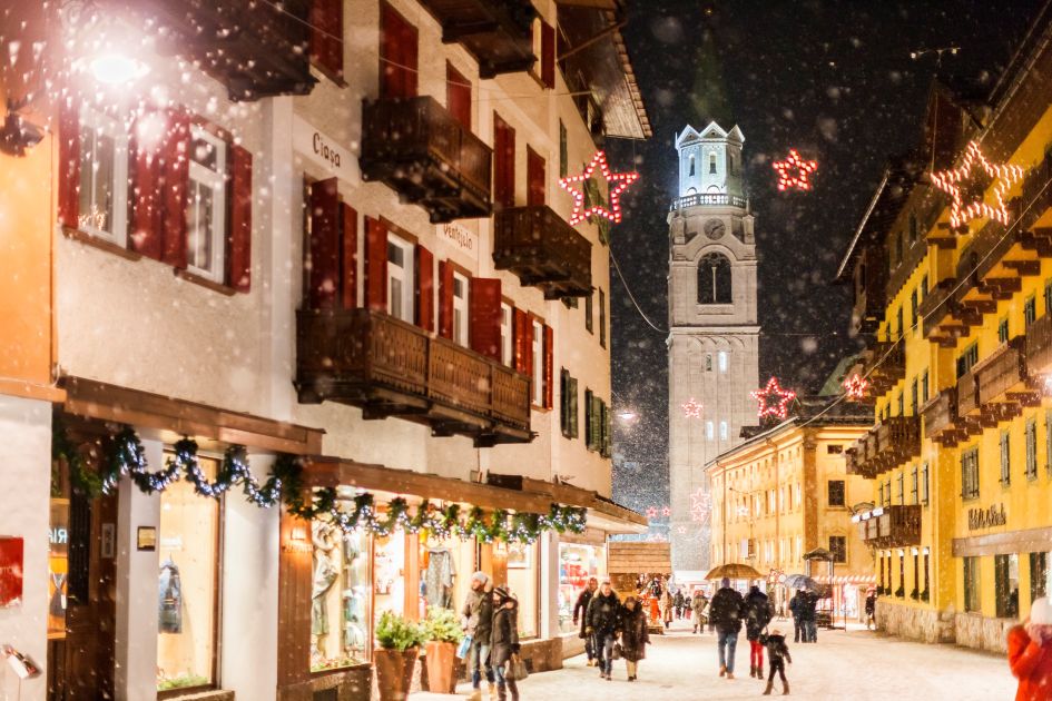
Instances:
[[[190,185],[186,199],[187,269],[224,282],[226,249],[226,141],[190,127]]]

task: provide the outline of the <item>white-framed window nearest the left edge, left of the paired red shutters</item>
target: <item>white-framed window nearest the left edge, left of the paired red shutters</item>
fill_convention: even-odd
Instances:
[[[77,228],[118,246],[127,243],[128,135],[116,119],[87,108],[80,111]]]

